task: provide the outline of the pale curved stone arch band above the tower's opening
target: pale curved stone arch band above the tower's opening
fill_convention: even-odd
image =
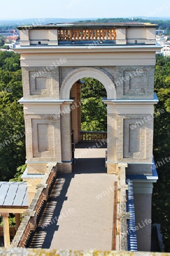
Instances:
[[[70,98],[70,89],[73,84],[82,79],[83,77],[92,77],[97,79],[104,85],[107,91],[107,98],[116,99],[116,88],[114,81],[111,76],[102,69],[97,68],[79,68],[71,71],[67,77],[63,80],[61,89],[60,89],[60,99],[66,100]]]

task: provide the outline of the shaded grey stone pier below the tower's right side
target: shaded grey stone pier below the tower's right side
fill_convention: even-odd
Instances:
[[[138,251],[151,251],[152,182],[133,180]]]

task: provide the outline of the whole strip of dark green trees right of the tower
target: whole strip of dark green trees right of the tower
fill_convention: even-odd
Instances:
[[[170,58],[157,56],[155,67],[155,92],[159,102],[155,105],[154,159],[163,163],[170,152]],[[163,110],[163,114],[160,113]],[[152,221],[161,224],[165,251],[170,251],[170,163],[158,164],[158,181],[152,195]]]

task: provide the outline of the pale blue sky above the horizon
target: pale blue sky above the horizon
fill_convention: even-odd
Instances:
[[[169,17],[170,0],[8,0],[1,19]]]

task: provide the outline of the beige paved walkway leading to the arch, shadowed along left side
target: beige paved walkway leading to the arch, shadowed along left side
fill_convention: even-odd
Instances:
[[[57,176],[29,247],[111,250],[116,180],[105,159],[76,159],[73,174]]]

